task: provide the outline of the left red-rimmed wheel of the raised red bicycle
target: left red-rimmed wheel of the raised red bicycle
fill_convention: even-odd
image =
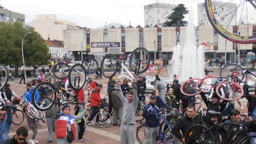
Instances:
[[[187,96],[195,96],[199,93],[202,92],[201,89],[195,89],[194,87],[191,87],[189,86],[189,88],[187,87],[186,84],[188,84],[188,82],[190,81],[195,81],[193,84],[197,84],[197,82],[199,82],[199,80],[201,80],[200,78],[191,78],[191,79],[188,79],[187,81],[183,82],[183,84],[181,84],[181,93],[184,94],[184,95],[187,95]],[[202,82],[202,86],[205,85],[205,81],[201,81]]]

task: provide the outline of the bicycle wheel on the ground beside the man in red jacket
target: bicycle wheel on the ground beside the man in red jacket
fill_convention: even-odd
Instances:
[[[109,122],[106,122],[106,118],[109,116]],[[96,117],[99,117],[99,121],[96,122]],[[109,114],[109,112],[107,111],[99,111],[95,117],[94,117],[94,121],[95,121],[95,124],[98,126],[98,127],[101,127],[101,128],[105,128],[105,127],[108,127],[111,122],[112,122],[112,117],[111,115]],[[102,121],[102,122],[101,122]]]

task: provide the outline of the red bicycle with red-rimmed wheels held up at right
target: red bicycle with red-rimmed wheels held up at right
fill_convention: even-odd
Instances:
[[[209,75],[206,75],[206,77],[202,79],[191,78],[181,85],[181,93],[187,96],[195,96],[202,91],[207,92],[216,87],[216,93],[221,99],[237,100],[243,96],[243,88],[239,84],[232,82],[233,78],[236,78],[236,75],[238,74],[239,73],[237,71],[233,71],[231,75],[227,76],[227,78]],[[214,82],[211,85],[208,83],[209,78],[223,78],[225,80]]]

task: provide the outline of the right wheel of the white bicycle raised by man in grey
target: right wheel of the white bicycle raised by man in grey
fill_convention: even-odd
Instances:
[[[135,72],[136,68],[138,69],[136,65],[136,62],[138,60],[141,60],[139,73],[145,72],[148,69],[148,66],[150,65],[150,54],[146,48],[138,47],[135,50],[133,50],[131,57],[129,59],[129,65],[133,72]]]

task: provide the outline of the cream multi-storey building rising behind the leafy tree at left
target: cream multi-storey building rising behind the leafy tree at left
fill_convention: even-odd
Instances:
[[[63,41],[63,30],[76,30],[79,27],[75,23],[65,20],[57,20],[55,14],[39,14],[36,20],[32,20],[35,31],[44,39],[57,39]]]

